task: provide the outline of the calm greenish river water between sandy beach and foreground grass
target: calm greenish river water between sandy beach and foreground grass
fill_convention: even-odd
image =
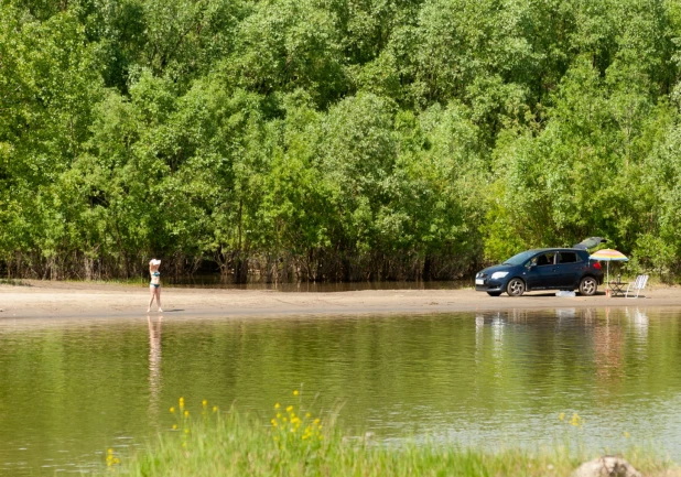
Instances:
[[[207,399],[264,419],[302,386],[352,432],[471,445],[579,435],[681,460],[681,310],[0,321],[0,474],[86,471]],[[559,421],[579,413],[584,425]]]

